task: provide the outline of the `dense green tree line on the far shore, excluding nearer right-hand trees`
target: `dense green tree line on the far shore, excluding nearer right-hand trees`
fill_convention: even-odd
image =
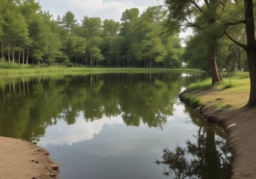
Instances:
[[[68,11],[56,19],[35,0],[3,0],[1,57],[12,63],[63,66],[180,66],[179,36],[167,36],[159,6],[125,10],[121,21]]]

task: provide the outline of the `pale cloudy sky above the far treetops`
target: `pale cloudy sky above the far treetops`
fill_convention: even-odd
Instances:
[[[38,0],[42,10],[49,11],[55,18],[63,17],[66,12],[74,13],[78,21],[84,16],[100,17],[101,20],[120,21],[122,13],[130,8],[138,8],[140,13],[148,6],[163,4],[163,0]]]

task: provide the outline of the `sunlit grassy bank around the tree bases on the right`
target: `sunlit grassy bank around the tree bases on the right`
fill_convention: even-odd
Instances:
[[[248,102],[250,78],[248,72],[236,72],[231,76],[231,84],[228,77],[214,86],[211,86],[211,79],[206,79],[191,84],[188,90],[189,94],[182,100],[193,107],[208,105],[214,109],[239,109]]]

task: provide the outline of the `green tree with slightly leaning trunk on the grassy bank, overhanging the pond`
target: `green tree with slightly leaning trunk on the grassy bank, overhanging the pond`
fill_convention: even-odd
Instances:
[[[216,63],[216,50],[218,39],[225,29],[223,24],[218,23],[218,20],[223,13],[226,1],[205,0],[203,5],[195,0],[165,0],[164,3],[168,9],[166,23],[170,31],[185,26],[193,27],[204,33],[204,38],[207,38],[207,66],[212,77],[212,84],[221,81]],[[196,21],[191,22],[191,17],[194,17]]]

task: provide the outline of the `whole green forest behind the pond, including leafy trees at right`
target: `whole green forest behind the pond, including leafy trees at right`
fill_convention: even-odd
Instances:
[[[214,53],[219,71],[248,70],[244,48],[232,42],[246,41],[241,18],[234,19],[243,17],[242,1],[179,2],[166,0],[164,6],[148,7],[142,13],[131,8],[118,22],[87,15],[79,21],[70,11],[54,19],[35,0],[3,0],[1,59],[69,67],[175,68],[186,62],[190,68],[210,72],[205,59]],[[186,37],[182,47],[179,32],[188,28],[193,35]]]

